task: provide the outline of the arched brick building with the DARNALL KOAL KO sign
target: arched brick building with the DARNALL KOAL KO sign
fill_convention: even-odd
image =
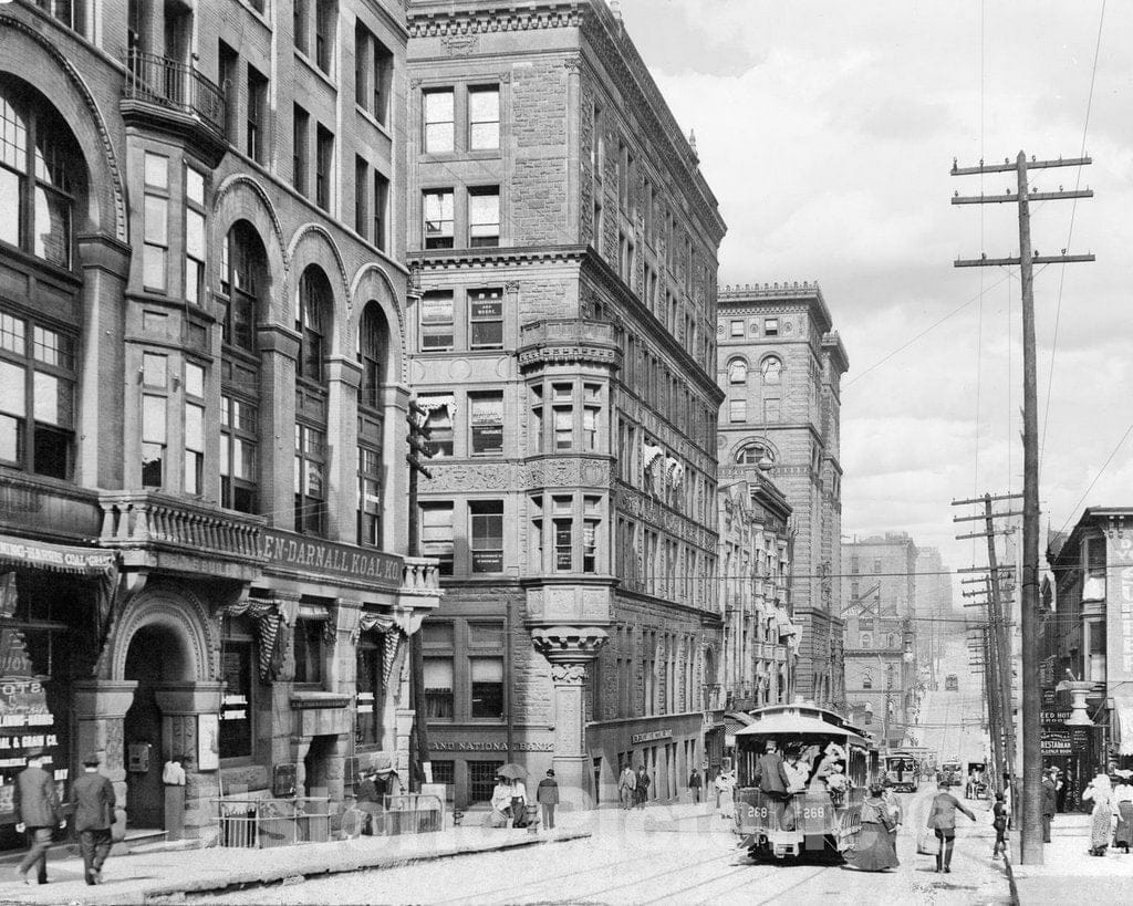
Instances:
[[[359,761],[404,775],[441,596],[404,556],[406,41],[378,0],[0,7],[0,845],[33,745],[205,839],[222,794],[333,826]]]

